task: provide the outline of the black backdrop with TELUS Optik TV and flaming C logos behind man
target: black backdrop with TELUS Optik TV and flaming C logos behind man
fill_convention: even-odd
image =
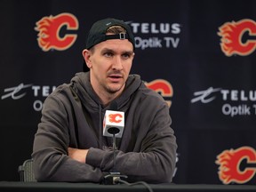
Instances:
[[[92,23],[127,21],[132,73],[170,106],[175,183],[255,184],[256,1],[1,0],[0,180],[19,180],[45,98],[83,70]]]

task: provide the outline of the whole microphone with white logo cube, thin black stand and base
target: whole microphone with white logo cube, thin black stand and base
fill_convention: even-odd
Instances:
[[[104,184],[114,185],[120,178],[127,178],[126,175],[116,172],[116,138],[121,138],[124,132],[124,112],[117,111],[116,100],[110,103],[109,108],[103,119],[103,136],[113,138],[113,172],[104,176]]]

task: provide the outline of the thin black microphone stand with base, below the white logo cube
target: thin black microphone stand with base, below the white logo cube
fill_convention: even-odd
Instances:
[[[113,130],[110,128],[108,132],[113,134],[113,172],[109,172],[108,175],[104,176],[104,184],[115,185],[119,183],[121,178],[127,178],[127,175],[121,175],[120,172],[116,171],[116,134],[119,130],[113,127]]]

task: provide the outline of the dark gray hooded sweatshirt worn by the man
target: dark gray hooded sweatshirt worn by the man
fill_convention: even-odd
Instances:
[[[177,144],[165,100],[130,75],[116,103],[125,116],[123,137],[116,138],[116,171],[128,181],[171,182]],[[112,171],[112,138],[102,135],[107,109],[89,72],[77,73],[46,98],[32,153],[37,181],[101,182]],[[68,157],[68,147],[89,148],[86,164]]]

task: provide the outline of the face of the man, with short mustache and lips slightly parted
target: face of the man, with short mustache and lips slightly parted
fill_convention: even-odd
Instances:
[[[132,68],[133,46],[127,39],[111,39],[93,47],[86,61],[91,68],[91,84],[95,92],[119,94]]]

